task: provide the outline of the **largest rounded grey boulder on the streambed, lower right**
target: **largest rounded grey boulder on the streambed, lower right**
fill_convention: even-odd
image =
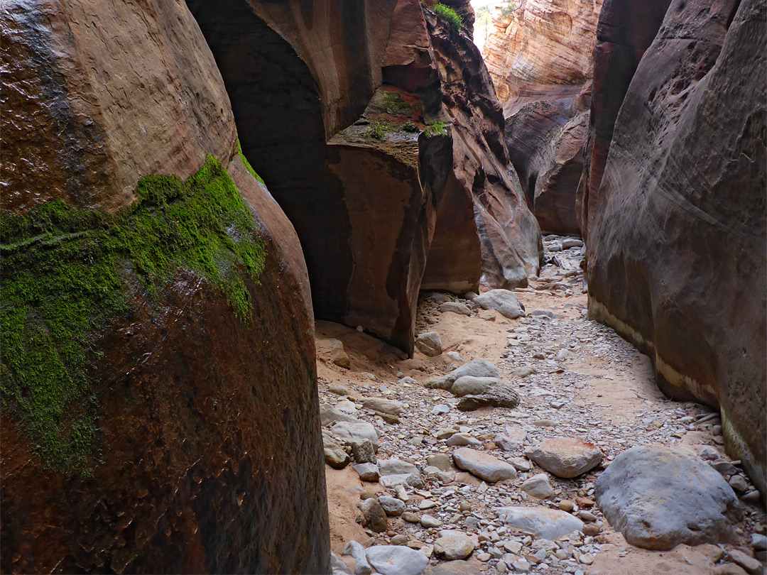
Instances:
[[[730,540],[741,514],[719,473],[696,455],[663,445],[622,452],[600,475],[594,494],[607,521],[645,549]]]

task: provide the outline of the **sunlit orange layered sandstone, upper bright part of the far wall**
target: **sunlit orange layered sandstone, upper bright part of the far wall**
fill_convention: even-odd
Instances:
[[[494,23],[484,56],[507,117],[591,77],[601,6],[602,0],[528,0]]]

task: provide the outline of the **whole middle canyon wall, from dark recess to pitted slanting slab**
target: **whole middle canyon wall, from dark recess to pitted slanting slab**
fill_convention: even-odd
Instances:
[[[363,327],[412,354],[421,287],[476,289],[482,265],[494,287],[523,284],[537,270],[537,227],[508,182],[499,184],[503,197],[490,200],[508,207],[493,208],[497,219],[481,208],[489,215],[476,219],[477,166],[440,179],[439,189],[424,173],[422,161],[446,163],[445,174],[463,169],[453,169],[459,156],[420,152],[426,140],[443,137],[436,133],[443,128],[431,133],[427,125],[450,120],[439,104],[439,58],[466,56],[477,73],[484,66],[476,50],[440,55],[471,43],[453,31],[436,48],[420,2],[187,4],[222,71],[243,152],[301,239],[318,318]],[[489,81],[461,90],[464,106],[477,108],[467,108],[469,117],[492,108]],[[502,123],[489,113],[485,131],[500,140]],[[503,154],[483,146],[480,157]],[[487,158],[479,163],[497,163]],[[512,177],[501,161],[494,181]],[[482,186],[496,193],[494,184]]]

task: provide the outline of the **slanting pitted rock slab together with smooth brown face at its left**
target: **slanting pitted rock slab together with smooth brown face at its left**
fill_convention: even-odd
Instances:
[[[427,90],[424,111],[448,125],[446,136],[430,138],[423,152],[437,218],[422,287],[476,291],[480,259],[490,288],[524,286],[540,264],[540,228],[509,162],[492,81],[473,42],[424,13],[439,71],[439,90]]]

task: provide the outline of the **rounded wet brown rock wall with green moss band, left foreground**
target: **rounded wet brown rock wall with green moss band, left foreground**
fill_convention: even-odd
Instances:
[[[0,18],[0,568],[327,572],[304,258],[192,15]]]

